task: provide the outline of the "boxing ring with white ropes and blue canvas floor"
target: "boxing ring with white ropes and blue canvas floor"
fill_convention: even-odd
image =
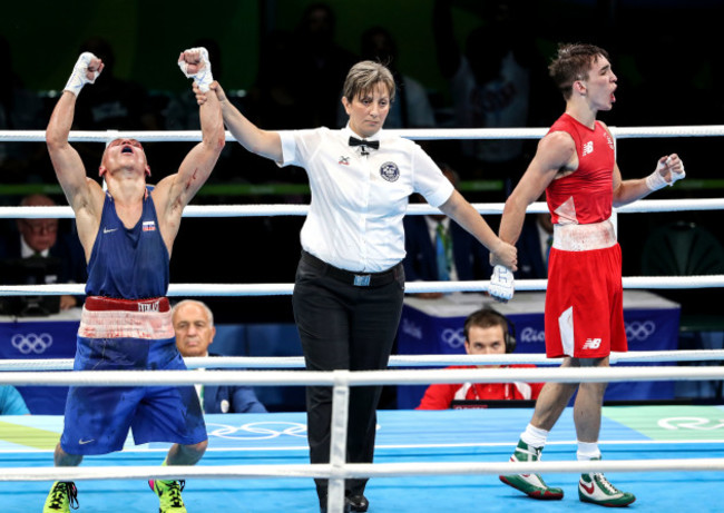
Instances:
[[[616,128],[615,137],[706,137],[724,135],[724,126]],[[389,130],[393,131],[393,130]],[[545,129],[400,130],[413,139],[539,138]],[[106,142],[118,137],[143,141],[200,140],[200,132],[71,132],[70,141]],[[42,141],[45,134],[0,131],[0,141]],[[227,134],[227,140],[231,136]],[[474,205],[482,214],[500,214],[502,204]],[[305,215],[303,205],[189,206],[185,217],[246,217]],[[639,200],[616,210],[647,213],[723,209],[722,199]],[[410,215],[434,213],[411,205]],[[534,204],[530,213],[545,211]],[[72,217],[69,207],[0,207],[0,217]],[[518,290],[545,289],[546,280],[520,280]],[[624,277],[625,288],[708,288],[724,286],[724,276]],[[292,284],[172,284],[169,296],[290,295]],[[486,290],[487,282],[411,283],[407,292]],[[82,294],[82,285],[0,286],[0,295]],[[513,298],[515,300],[515,298]],[[612,362],[721,361],[721,352],[671,352],[613,355]],[[52,447],[62,430],[55,416],[0,417],[0,497],[8,511],[39,509],[58,479],[76,481],[81,511],[153,511],[157,499],[144,480],[187,479],[184,501],[189,511],[316,512],[312,476],[329,477],[330,512],[341,511],[343,480],[372,476],[365,495],[370,511],[568,511],[581,506],[577,474],[600,471],[637,495],[630,507],[646,511],[675,507],[721,511],[715,492],[724,479],[724,406],[612,406],[604,407],[600,445],[606,460],[575,461],[573,412],[568,408],[546,445],[545,460],[510,463],[519,433],[530,410],[381,411],[374,464],[344,461],[350,386],[372,384],[430,384],[490,382],[596,382],[723,379],[724,367],[612,367],[609,369],[425,369],[453,363],[541,363],[542,356],[506,355],[443,358],[439,355],[394,357],[391,366],[418,369],[379,372],[297,372],[300,358],[214,358],[214,367],[290,368],[288,371],[78,372],[68,373],[68,361],[6,361],[1,384],[12,385],[136,385],[247,384],[256,386],[330,385],[334,387],[332,452],[326,465],[309,464],[303,413],[208,415],[209,447],[196,466],[160,467],[168,444],[135,446],[121,453],[88,457],[77,468],[52,467]],[[550,362],[548,362],[550,363]],[[204,366],[203,358],[189,367]],[[566,497],[552,503],[525,497],[501,483],[498,474],[539,472],[551,485],[562,486]]]

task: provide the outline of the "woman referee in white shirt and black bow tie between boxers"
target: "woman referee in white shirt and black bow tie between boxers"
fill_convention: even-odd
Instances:
[[[242,146],[309,175],[312,203],[292,297],[307,369],[387,367],[404,296],[402,218],[413,193],[485,245],[491,264],[516,266],[516,248],[496,236],[420,146],[383,132],[394,79],[381,63],[362,61],[350,70],[342,97],[350,119],[341,130],[262,130],[227,101],[218,83],[212,91]],[[197,99],[203,103],[206,97],[197,91]],[[372,462],[381,389],[351,389],[350,463]],[[306,408],[311,462],[329,463],[332,389],[307,387]],[[368,510],[366,481],[346,481],[345,511]],[[316,489],[324,512],[326,480],[316,480]]]

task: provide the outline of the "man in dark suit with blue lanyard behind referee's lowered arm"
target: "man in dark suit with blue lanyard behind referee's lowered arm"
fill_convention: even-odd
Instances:
[[[442,174],[457,188],[458,174],[438,162]],[[444,215],[407,216],[404,224],[404,276],[408,282],[488,279],[489,251],[457,223]],[[442,293],[422,293],[417,297],[437,298]]]

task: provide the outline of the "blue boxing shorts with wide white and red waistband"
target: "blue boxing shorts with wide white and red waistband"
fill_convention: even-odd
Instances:
[[[124,309],[116,309],[118,302],[123,302],[120,307]],[[153,302],[160,304],[156,304],[156,310],[140,309]],[[114,309],[105,309],[107,303],[111,303]],[[140,310],[133,310],[134,307]],[[90,297],[86,300],[74,371],[185,368],[173,336],[166,298],[126,302]],[[198,395],[193,386],[70,387],[60,437],[60,446],[66,453],[85,455],[120,451],[129,430],[136,444],[170,442],[192,445],[207,438]]]

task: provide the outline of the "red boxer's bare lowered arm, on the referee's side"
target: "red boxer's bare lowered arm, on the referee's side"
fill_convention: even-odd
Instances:
[[[526,218],[526,208],[540,197],[556,175],[573,172],[577,166],[576,146],[568,134],[556,131],[544,137],[528,169],[506,201],[500,220],[500,238],[516,244]]]

